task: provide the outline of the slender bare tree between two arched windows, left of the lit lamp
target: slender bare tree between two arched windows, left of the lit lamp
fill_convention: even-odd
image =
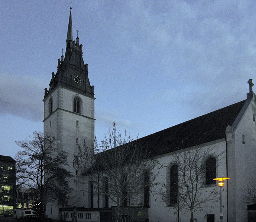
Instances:
[[[167,181],[163,179],[164,182],[162,182],[162,186],[158,187],[157,192],[161,201],[176,209],[174,214],[178,216],[178,221],[180,213],[187,211],[190,213],[191,221],[193,221],[194,211],[202,211],[203,209],[209,211],[214,208],[213,203],[219,200],[217,187],[207,188],[211,189],[209,192],[205,190],[205,161],[210,156],[214,156],[218,161],[211,167],[216,168],[223,163],[222,160],[225,157],[223,152],[218,153],[217,149],[214,150],[212,147],[207,148],[201,145],[194,148],[183,148],[178,143],[176,151],[170,156],[170,162],[174,163],[173,166],[176,166],[176,173],[170,175],[169,172],[168,177],[170,178]],[[213,169],[212,172],[215,172],[215,170]],[[214,177],[216,177],[215,174]]]

